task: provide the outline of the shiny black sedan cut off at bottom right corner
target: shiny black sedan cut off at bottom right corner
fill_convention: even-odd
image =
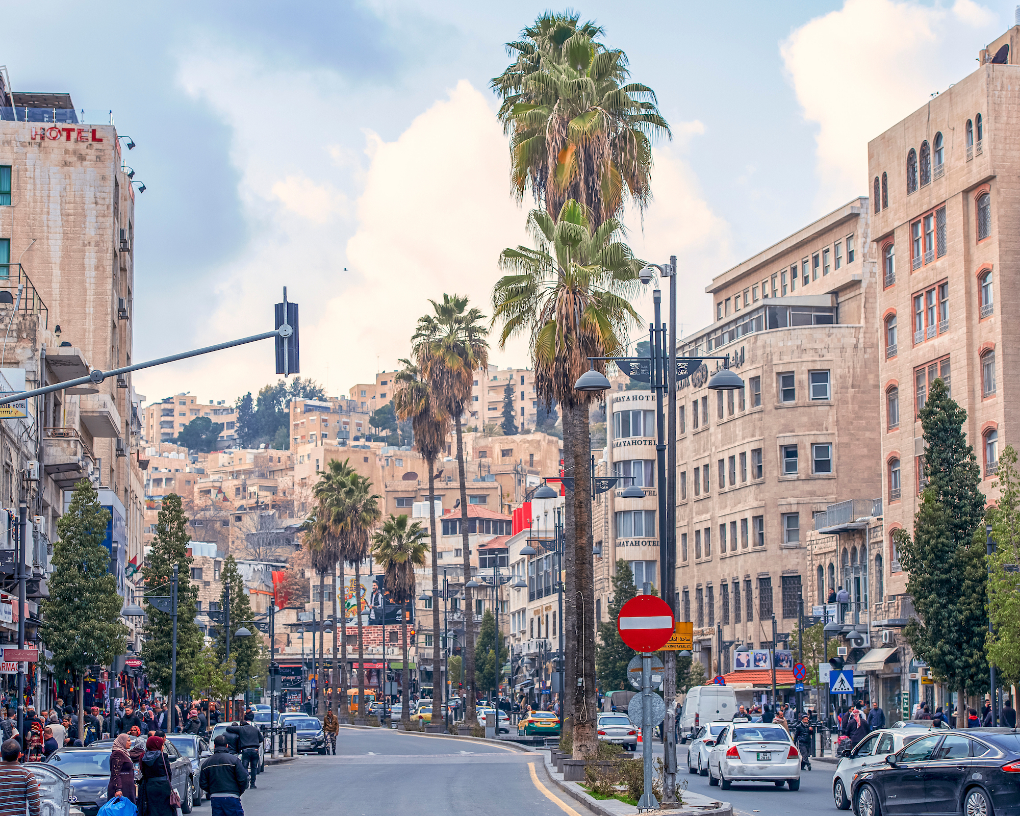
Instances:
[[[856,774],[857,816],[1020,816],[1020,731],[939,730]]]

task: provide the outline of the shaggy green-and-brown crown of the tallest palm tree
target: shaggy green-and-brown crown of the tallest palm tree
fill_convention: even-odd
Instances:
[[[503,98],[511,134],[510,177],[523,198],[555,216],[569,199],[591,209],[595,225],[619,216],[628,199],[651,198],[650,137],[670,137],[655,92],[627,83],[623,51],[596,42],[602,30],[573,14],[545,14],[508,43],[516,60],[490,83]]]

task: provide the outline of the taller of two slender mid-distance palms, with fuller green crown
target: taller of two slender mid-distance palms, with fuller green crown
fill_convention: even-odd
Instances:
[[[467,298],[443,295],[432,313],[418,318],[411,347],[421,375],[428,382],[437,405],[453,418],[457,434],[457,473],[460,478],[460,531],[463,541],[464,582],[471,577],[467,529],[467,482],[464,474],[464,441],[461,419],[471,399],[474,374],[489,365],[489,342],[482,325],[486,316],[467,307]],[[464,588],[464,658],[467,672],[465,716],[474,721],[474,608],[471,590]]]

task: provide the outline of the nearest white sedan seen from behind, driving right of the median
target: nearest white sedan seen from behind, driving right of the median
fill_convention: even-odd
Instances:
[[[719,732],[708,755],[708,783],[773,782],[801,787],[801,754],[781,725],[734,722]]]

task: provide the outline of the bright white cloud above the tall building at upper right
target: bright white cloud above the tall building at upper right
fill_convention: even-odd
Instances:
[[[997,20],[973,0],[846,0],[780,44],[804,116],[818,125],[820,206],[867,191],[868,141],[972,70]]]

